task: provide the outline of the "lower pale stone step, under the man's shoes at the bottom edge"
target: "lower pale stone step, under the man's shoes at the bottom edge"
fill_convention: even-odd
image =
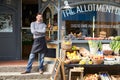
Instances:
[[[51,73],[44,72],[40,74],[38,72],[21,74],[20,72],[0,72],[0,80],[49,80]]]

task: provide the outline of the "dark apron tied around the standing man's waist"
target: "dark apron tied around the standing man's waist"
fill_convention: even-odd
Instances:
[[[47,51],[48,49],[45,37],[35,38],[32,45],[31,53],[47,53]]]

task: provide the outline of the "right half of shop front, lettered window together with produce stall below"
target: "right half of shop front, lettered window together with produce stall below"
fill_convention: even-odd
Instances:
[[[68,79],[78,76],[79,67],[84,68],[85,80],[92,80],[90,76],[95,75],[119,76],[120,2],[70,0],[68,3],[68,9],[62,3],[58,5],[58,41],[55,42],[60,50],[57,54],[68,70]],[[74,72],[71,78],[72,69],[76,75]]]

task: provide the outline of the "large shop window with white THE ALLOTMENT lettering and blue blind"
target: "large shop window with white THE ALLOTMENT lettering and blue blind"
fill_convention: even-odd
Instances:
[[[69,9],[61,9],[60,40],[71,39],[74,45],[89,50],[88,40],[109,43],[120,35],[119,3],[94,0],[70,5]]]

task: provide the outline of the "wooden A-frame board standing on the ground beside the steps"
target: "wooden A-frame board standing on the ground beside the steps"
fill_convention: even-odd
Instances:
[[[60,59],[56,59],[50,80],[60,80],[59,78],[61,78],[61,80],[66,80],[64,62]]]

